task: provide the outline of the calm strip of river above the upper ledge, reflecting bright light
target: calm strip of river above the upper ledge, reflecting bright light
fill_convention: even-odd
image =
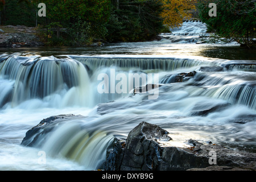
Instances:
[[[168,39],[153,42],[113,43],[97,47],[0,48],[0,53],[19,55],[187,55],[231,60],[255,60],[256,51],[240,46],[212,44],[172,44]]]

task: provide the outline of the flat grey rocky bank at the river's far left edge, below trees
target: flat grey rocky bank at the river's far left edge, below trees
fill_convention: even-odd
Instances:
[[[0,26],[0,47],[34,47],[43,46],[35,27]]]

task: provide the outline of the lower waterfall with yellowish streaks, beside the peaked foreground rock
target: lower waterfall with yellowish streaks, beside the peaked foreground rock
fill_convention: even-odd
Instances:
[[[47,155],[71,159],[86,170],[101,168],[105,162],[106,148],[114,139],[113,135],[105,131],[83,129],[76,121],[61,123],[45,138],[42,150]]]

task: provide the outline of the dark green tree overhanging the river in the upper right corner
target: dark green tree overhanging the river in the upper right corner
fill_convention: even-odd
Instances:
[[[209,3],[217,5],[217,16],[210,17]],[[255,0],[198,0],[197,8],[201,20],[217,35],[233,39],[241,46],[256,48],[256,1]]]

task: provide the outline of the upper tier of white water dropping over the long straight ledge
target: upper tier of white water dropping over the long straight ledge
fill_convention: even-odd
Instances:
[[[72,57],[72,58],[71,58]],[[2,61],[0,75],[5,78],[5,92],[0,104],[10,102],[11,107],[65,107],[95,106],[101,102],[127,97],[129,94],[98,94],[97,76],[110,72],[110,66],[119,73],[133,71],[158,72],[177,68],[191,68],[199,65],[213,65],[212,61],[175,58],[123,57],[40,57],[14,56]],[[109,67],[109,68],[108,68]],[[91,78],[86,68],[89,68]],[[147,71],[149,70],[149,71]],[[110,77],[110,75],[109,75]],[[113,78],[115,79],[115,78]],[[7,81],[9,80],[9,81]],[[129,87],[129,82],[127,82]],[[145,85],[146,83],[142,84]],[[13,86],[11,86],[13,85]],[[127,90],[129,93],[131,90]],[[29,100],[34,104],[26,106]],[[7,105],[7,106],[10,106]]]

